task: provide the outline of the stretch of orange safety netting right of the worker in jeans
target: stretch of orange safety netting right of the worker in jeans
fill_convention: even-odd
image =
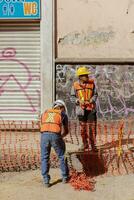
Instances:
[[[70,142],[81,142],[80,126],[71,122]],[[93,124],[87,127],[94,128]],[[76,130],[77,129],[77,130]],[[75,137],[74,137],[75,135]],[[89,135],[89,134],[88,134]],[[134,172],[134,121],[98,121],[96,140],[98,152],[89,148],[84,152],[70,152],[69,162],[88,176],[119,175]],[[90,143],[90,140],[89,140]]]

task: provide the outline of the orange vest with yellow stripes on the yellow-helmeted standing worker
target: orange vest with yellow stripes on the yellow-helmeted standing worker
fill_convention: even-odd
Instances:
[[[94,80],[89,80],[86,84],[80,84],[76,81],[74,83],[74,89],[76,91],[76,96],[79,98],[81,108],[93,110],[95,108],[95,104],[90,103],[89,101],[93,96]]]

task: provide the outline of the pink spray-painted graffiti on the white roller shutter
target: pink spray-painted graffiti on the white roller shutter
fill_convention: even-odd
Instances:
[[[37,104],[40,102],[40,91],[36,87],[32,93],[30,90],[35,82],[40,81],[40,76],[33,74],[26,63],[17,59],[16,53],[15,48],[6,48],[0,55],[0,112],[35,113],[39,108]],[[19,100],[16,100],[16,105],[2,106],[2,99],[6,98],[5,101],[8,101],[7,96],[10,102],[20,96],[25,106],[20,106]]]

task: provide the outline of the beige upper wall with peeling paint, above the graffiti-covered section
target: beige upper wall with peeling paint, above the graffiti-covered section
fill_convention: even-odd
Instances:
[[[57,0],[58,58],[134,60],[134,0]]]

